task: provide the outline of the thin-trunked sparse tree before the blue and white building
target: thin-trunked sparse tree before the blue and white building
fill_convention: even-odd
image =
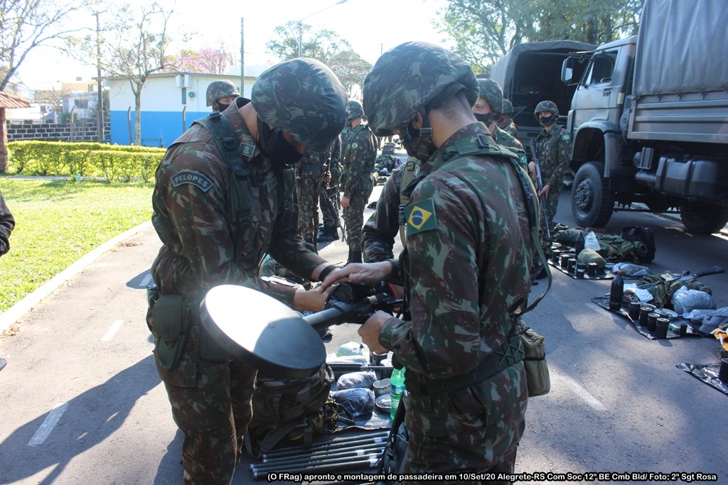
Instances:
[[[1,1],[1,0],[0,0]],[[76,52],[90,63],[98,63],[101,71],[110,76],[124,77],[134,94],[134,144],[141,140],[141,92],[149,75],[173,68],[167,48],[167,24],[173,15],[157,2],[145,4],[138,10],[128,4],[106,12],[111,21],[103,28],[103,35],[89,34],[71,39]],[[98,50],[97,50],[98,49]]]

